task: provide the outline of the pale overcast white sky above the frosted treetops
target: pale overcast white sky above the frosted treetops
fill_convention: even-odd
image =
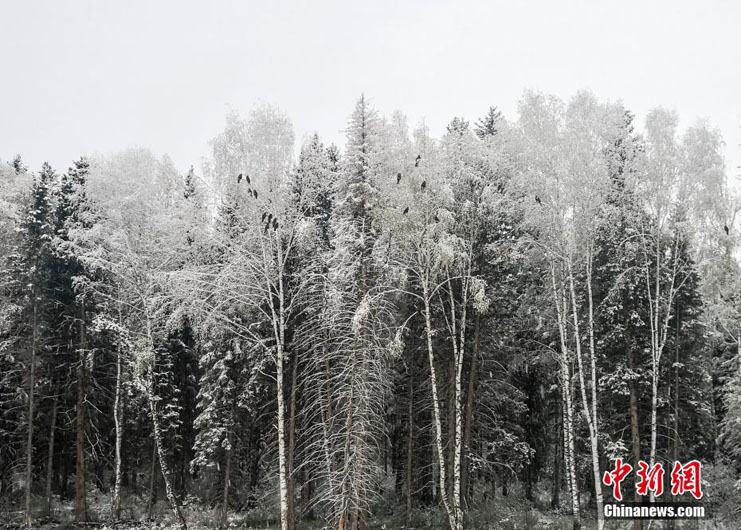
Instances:
[[[453,116],[526,88],[588,88],[639,120],[707,117],[741,173],[741,2],[0,0],[0,158],[37,170],[131,146],[200,166],[230,109],[285,110],[342,142],[365,92],[384,114]]]

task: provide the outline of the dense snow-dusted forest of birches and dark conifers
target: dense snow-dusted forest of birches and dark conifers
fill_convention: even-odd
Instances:
[[[361,97],[345,133],[296,156],[258,107],[184,174],[5,154],[0,521],[617,528],[620,457],[700,460],[737,528],[717,130],[526,92],[441,138]]]

